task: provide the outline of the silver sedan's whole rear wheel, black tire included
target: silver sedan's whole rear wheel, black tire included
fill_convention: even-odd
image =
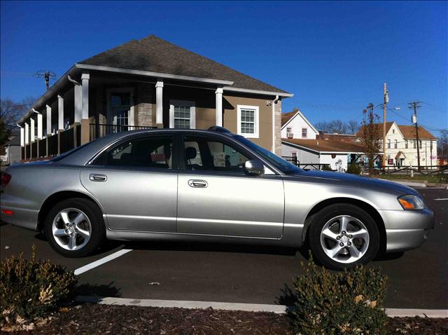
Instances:
[[[71,198],[52,207],[45,219],[45,237],[64,257],[85,257],[103,244],[106,227],[97,204]]]

